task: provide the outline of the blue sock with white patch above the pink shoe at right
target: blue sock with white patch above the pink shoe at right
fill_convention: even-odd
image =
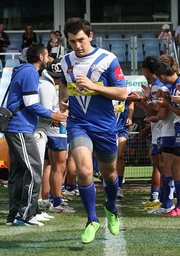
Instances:
[[[164,200],[163,207],[169,208],[173,205],[173,192],[174,192],[174,184],[173,177],[163,177],[163,185],[164,185]]]

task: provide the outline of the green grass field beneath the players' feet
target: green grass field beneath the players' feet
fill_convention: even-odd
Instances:
[[[180,249],[180,219],[146,213],[141,203],[148,199],[149,191],[149,188],[124,189],[125,199],[118,202],[121,231],[118,236],[112,236],[102,210],[106,196],[102,187],[97,187],[97,216],[101,227],[95,240],[83,245],[80,236],[85,228],[86,213],[79,198],[70,202],[76,213],[53,213],[55,219],[44,222],[44,226],[5,226],[8,195],[7,188],[1,187],[0,255],[177,255]]]

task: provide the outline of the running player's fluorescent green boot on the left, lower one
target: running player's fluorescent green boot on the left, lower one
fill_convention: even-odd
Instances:
[[[100,228],[99,222],[88,221],[86,223],[86,228],[84,233],[81,236],[81,240],[83,243],[91,243],[94,240],[95,233],[97,233]]]

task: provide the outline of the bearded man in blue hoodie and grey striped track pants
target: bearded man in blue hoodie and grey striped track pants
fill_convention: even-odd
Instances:
[[[27,51],[28,63],[13,69],[7,108],[14,111],[24,104],[8,123],[5,139],[10,153],[8,192],[10,210],[7,225],[43,225],[34,219],[40,192],[42,166],[34,130],[38,116],[57,122],[65,115],[47,110],[39,102],[38,70],[46,67],[48,52],[42,43],[32,44]]]

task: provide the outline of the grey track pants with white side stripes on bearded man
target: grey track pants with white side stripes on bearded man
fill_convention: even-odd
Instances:
[[[8,193],[10,210],[7,220],[13,222],[17,212],[29,220],[35,214],[40,193],[42,164],[34,134],[5,133],[10,154]]]

